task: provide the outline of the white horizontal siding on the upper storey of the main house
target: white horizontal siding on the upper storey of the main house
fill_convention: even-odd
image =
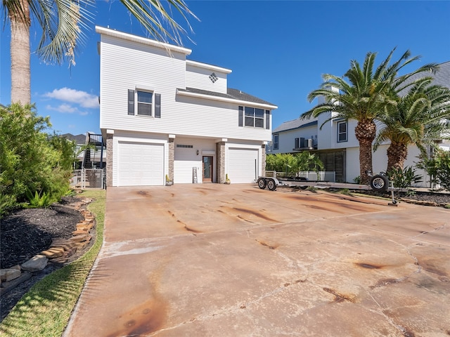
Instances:
[[[214,70],[214,73],[219,77],[219,72]],[[184,54],[172,52],[169,56],[161,48],[102,35],[101,129],[261,142],[271,140],[269,129],[238,126],[238,105],[242,103],[224,103],[177,95],[177,88],[186,88],[185,80],[188,77]],[[210,81],[206,75],[205,80]],[[221,77],[214,86],[220,80]],[[161,95],[160,119],[142,118],[127,113],[128,90],[139,89],[139,86],[151,87]]]

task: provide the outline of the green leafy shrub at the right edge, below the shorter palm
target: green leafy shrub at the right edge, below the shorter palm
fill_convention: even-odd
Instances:
[[[450,191],[450,151],[436,149],[430,158],[423,154],[417,166],[427,171],[433,184]]]

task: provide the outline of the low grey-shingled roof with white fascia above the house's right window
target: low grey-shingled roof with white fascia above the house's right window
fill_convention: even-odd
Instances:
[[[257,98],[256,96],[250,95],[248,93],[244,93],[238,89],[226,88],[226,93],[217,93],[215,91],[207,91],[196,88],[186,88],[176,89],[178,93],[185,95],[198,95],[198,96],[210,96],[211,98],[221,98],[219,100],[228,100],[228,101],[236,101],[236,103],[253,103],[254,105],[262,105],[268,109],[276,109],[277,106],[267,102],[266,100],[262,100],[261,98]],[[207,97],[205,97],[207,98]]]

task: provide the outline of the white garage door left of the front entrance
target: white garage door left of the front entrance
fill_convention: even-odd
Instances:
[[[164,185],[164,145],[119,143],[119,186]]]

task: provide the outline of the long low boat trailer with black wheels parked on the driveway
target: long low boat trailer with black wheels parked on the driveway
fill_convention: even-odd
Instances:
[[[277,178],[275,171],[267,171],[267,176],[259,177],[257,179],[258,187],[264,190],[266,187],[275,191],[276,187],[298,187],[302,190],[307,187],[318,187],[318,188],[348,188],[349,190],[373,190],[375,192],[392,192],[392,204],[397,206],[397,201],[394,199],[394,191],[406,192],[408,190],[404,188],[397,188],[393,186],[393,182],[387,179],[384,174],[375,174],[371,176],[370,183],[368,185],[364,184],[350,184],[350,183],[331,183],[328,181],[319,180],[308,180],[304,177],[293,177],[293,178]]]

